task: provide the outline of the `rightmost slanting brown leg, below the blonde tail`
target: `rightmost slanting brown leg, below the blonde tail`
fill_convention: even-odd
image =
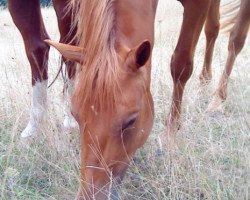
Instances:
[[[207,112],[221,110],[222,103],[227,98],[228,79],[232,72],[234,62],[244,47],[245,40],[250,25],[250,1],[242,0],[242,5],[239,11],[238,19],[230,33],[228,44],[228,57],[225,69],[221,75],[219,85],[213,95],[213,99],[208,105]]]

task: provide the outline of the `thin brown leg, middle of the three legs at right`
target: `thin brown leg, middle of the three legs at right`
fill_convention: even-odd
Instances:
[[[199,76],[201,84],[206,84],[212,79],[212,57],[214,44],[220,29],[220,0],[213,0],[208,10],[205,22],[206,53],[201,74]]]

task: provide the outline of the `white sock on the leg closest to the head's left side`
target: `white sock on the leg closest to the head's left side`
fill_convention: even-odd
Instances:
[[[77,122],[71,114],[71,97],[74,91],[74,80],[67,79],[64,89],[64,121],[63,126],[65,129],[74,129],[77,127]]]

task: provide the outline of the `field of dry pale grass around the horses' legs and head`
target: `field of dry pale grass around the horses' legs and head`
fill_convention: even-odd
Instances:
[[[153,53],[152,94],[155,122],[147,143],[138,150],[122,184],[121,199],[250,199],[250,41],[234,66],[223,110],[204,111],[211,100],[227,56],[228,35],[216,42],[213,80],[199,84],[205,37],[195,54],[194,73],[183,103],[182,126],[174,155],[157,156],[158,135],[171,103],[171,54],[178,39],[183,9],[177,1],[160,1]],[[51,8],[43,9],[52,39],[59,37]],[[9,13],[0,10],[0,199],[74,199],[78,189],[79,134],[62,131],[62,79],[48,90],[49,111],[43,134],[29,146],[20,133],[29,119],[30,68],[21,36]],[[50,51],[49,82],[59,66]]]

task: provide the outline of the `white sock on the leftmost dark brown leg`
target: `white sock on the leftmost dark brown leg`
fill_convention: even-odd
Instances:
[[[40,132],[39,124],[43,120],[47,109],[47,85],[48,81],[36,82],[33,86],[32,106],[30,120],[27,127],[21,133],[21,137],[29,137]]]

